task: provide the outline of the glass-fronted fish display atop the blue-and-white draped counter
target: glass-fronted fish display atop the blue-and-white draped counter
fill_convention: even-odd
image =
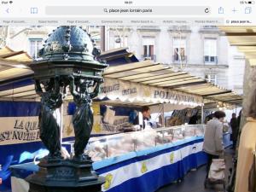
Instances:
[[[93,161],[105,160],[166,143],[182,141],[190,137],[202,137],[204,129],[205,125],[179,125],[92,137],[84,153],[88,154]],[[71,145],[73,152],[73,142],[64,144]]]

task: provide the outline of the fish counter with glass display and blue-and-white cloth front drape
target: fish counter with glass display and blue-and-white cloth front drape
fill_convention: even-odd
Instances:
[[[207,162],[204,129],[181,125],[92,137],[84,153],[106,179],[102,191],[154,192]]]

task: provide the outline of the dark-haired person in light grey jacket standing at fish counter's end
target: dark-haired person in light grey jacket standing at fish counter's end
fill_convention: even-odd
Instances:
[[[213,119],[207,122],[203,150],[207,153],[207,177],[212,164],[212,159],[218,159],[224,155],[223,144],[223,122],[226,114],[223,111],[216,111]]]

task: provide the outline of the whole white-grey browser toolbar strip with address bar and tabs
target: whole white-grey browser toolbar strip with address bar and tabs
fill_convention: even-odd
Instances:
[[[2,1],[8,26],[252,26],[254,1]]]

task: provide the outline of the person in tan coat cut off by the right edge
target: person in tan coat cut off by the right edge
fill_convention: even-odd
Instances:
[[[246,112],[247,124],[241,130],[241,137],[238,148],[238,161],[236,167],[236,188],[235,192],[255,191],[249,190],[249,172],[253,166],[253,151],[256,145],[256,90],[253,92],[251,105]],[[255,155],[255,154],[254,154]],[[253,167],[255,170],[255,167]],[[251,185],[256,186],[255,178]]]

